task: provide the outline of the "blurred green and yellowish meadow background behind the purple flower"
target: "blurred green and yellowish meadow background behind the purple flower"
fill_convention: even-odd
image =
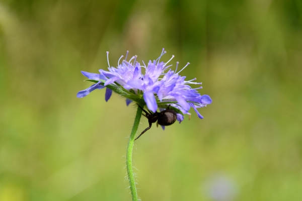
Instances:
[[[130,200],[135,105],[80,71],[163,47],[213,103],[135,142],[139,197],[302,200],[300,0],[0,1],[0,200]]]

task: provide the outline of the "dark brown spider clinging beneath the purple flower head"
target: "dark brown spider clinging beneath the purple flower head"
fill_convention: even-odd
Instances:
[[[169,109],[169,107],[167,110],[164,110],[160,113],[158,113],[158,112],[152,113],[149,110],[147,112],[143,108],[141,108],[139,105],[138,105],[138,107],[145,113],[142,115],[148,119],[149,126],[145,130],[143,130],[141,132],[141,134],[134,140],[137,140],[142,134],[144,134],[144,132],[149,130],[151,128],[152,124],[155,123],[156,121],[158,121],[157,124],[159,124],[161,126],[169,126],[176,121],[176,112],[174,110]]]

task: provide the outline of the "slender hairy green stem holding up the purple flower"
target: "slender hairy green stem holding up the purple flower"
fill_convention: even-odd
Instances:
[[[138,127],[139,120],[141,117],[141,112],[142,112],[141,109],[139,107],[137,107],[137,112],[136,112],[135,120],[133,123],[130,138],[129,138],[128,148],[127,148],[126,162],[127,162],[127,172],[128,172],[130,190],[131,190],[131,194],[132,194],[132,201],[138,201],[136,187],[135,187],[135,181],[134,181],[134,176],[133,176],[133,169],[132,169],[132,150],[133,150],[135,133],[137,131],[137,127]]]

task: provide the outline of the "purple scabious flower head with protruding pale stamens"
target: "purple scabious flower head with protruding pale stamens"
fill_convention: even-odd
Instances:
[[[196,78],[186,81],[185,76],[179,75],[189,63],[181,70],[172,70],[168,63],[174,58],[174,55],[166,63],[160,61],[166,53],[163,49],[161,55],[156,60],[149,60],[148,64],[142,61],[141,65],[136,61],[137,56],[131,57],[127,61],[128,51],[125,59],[121,61],[123,55],[118,60],[117,67],[111,67],[108,61],[108,71],[100,69],[100,73],[90,73],[81,71],[89,81],[95,82],[89,88],[79,91],[77,97],[84,97],[95,89],[106,87],[105,100],[109,100],[112,90],[126,97],[127,106],[132,102],[145,104],[153,113],[171,108],[177,113],[179,123],[183,121],[183,114],[188,114],[190,108],[193,108],[200,119],[203,117],[197,111],[197,108],[203,108],[211,104],[212,100],[209,95],[200,95],[197,89],[202,88],[201,82],[194,82]],[[121,61],[121,63],[120,63]],[[133,61],[133,62],[132,62]],[[192,88],[189,84],[199,85]]]

